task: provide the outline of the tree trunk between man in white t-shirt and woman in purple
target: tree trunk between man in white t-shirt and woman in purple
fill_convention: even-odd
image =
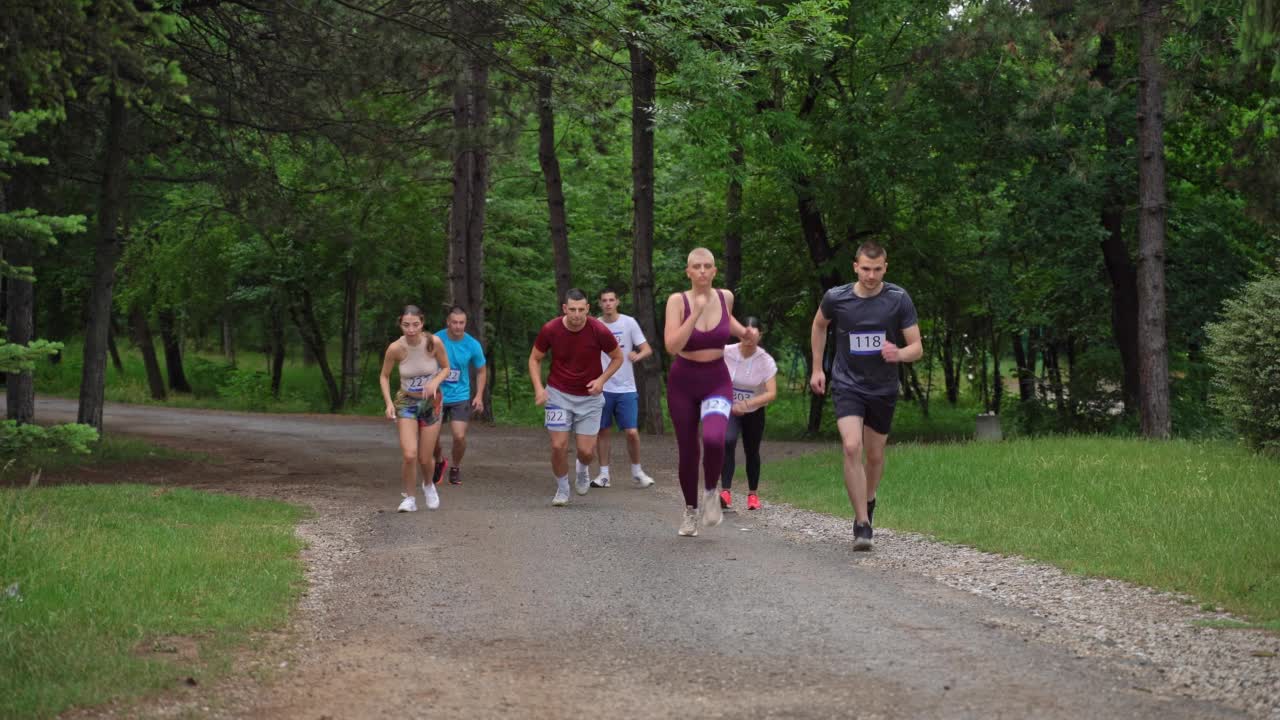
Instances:
[[[631,293],[636,323],[649,338],[653,360],[635,366],[640,418],[646,433],[662,434],[662,328],[658,327],[653,279],[654,209],[654,99],[658,69],[644,47],[628,46],[631,54]]]

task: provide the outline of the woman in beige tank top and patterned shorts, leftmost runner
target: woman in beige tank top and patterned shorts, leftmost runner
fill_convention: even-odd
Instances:
[[[444,343],[422,332],[422,311],[407,305],[399,318],[404,334],[387,346],[378,383],[387,402],[387,419],[396,423],[401,439],[399,512],[417,510],[417,466],[422,466],[422,496],[426,509],[440,506],[440,495],[431,482],[431,450],[440,434],[440,383],[449,374],[449,355]],[[392,368],[399,369],[399,391],[392,398]]]

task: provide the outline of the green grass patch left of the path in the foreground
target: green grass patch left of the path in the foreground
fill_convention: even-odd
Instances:
[[[51,717],[229,669],[303,588],[305,515],[147,486],[0,491],[0,717]],[[4,588],[15,587],[15,596]],[[174,653],[192,638],[198,656]]]

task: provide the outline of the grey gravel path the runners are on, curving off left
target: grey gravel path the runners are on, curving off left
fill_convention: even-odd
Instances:
[[[127,406],[106,423],[224,459],[113,480],[317,514],[292,632],[224,680],[84,716],[1280,717],[1277,637],[1193,625],[1211,615],[1169,594],[888,529],[855,555],[847,521],[772,503],[676,538],[669,438],[645,438],[658,488],[556,510],[543,433],[477,427],[466,484],[396,514],[384,423]]]

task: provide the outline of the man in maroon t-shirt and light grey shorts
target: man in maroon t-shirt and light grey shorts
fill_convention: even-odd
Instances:
[[[604,407],[604,382],[622,366],[622,350],[604,323],[591,316],[586,293],[571,288],[564,293],[563,315],[549,320],[538,332],[529,354],[529,379],[534,383],[534,401],[547,406],[547,430],[552,436],[552,471],[556,473],[556,497],[552,505],[568,505],[568,433],[577,436],[577,460],[591,464],[595,434],[600,432],[600,410]],[[552,372],[543,387],[543,357],[552,354]],[[609,356],[609,366],[600,372],[600,354]],[[573,489],[586,495],[591,478],[579,473]]]

